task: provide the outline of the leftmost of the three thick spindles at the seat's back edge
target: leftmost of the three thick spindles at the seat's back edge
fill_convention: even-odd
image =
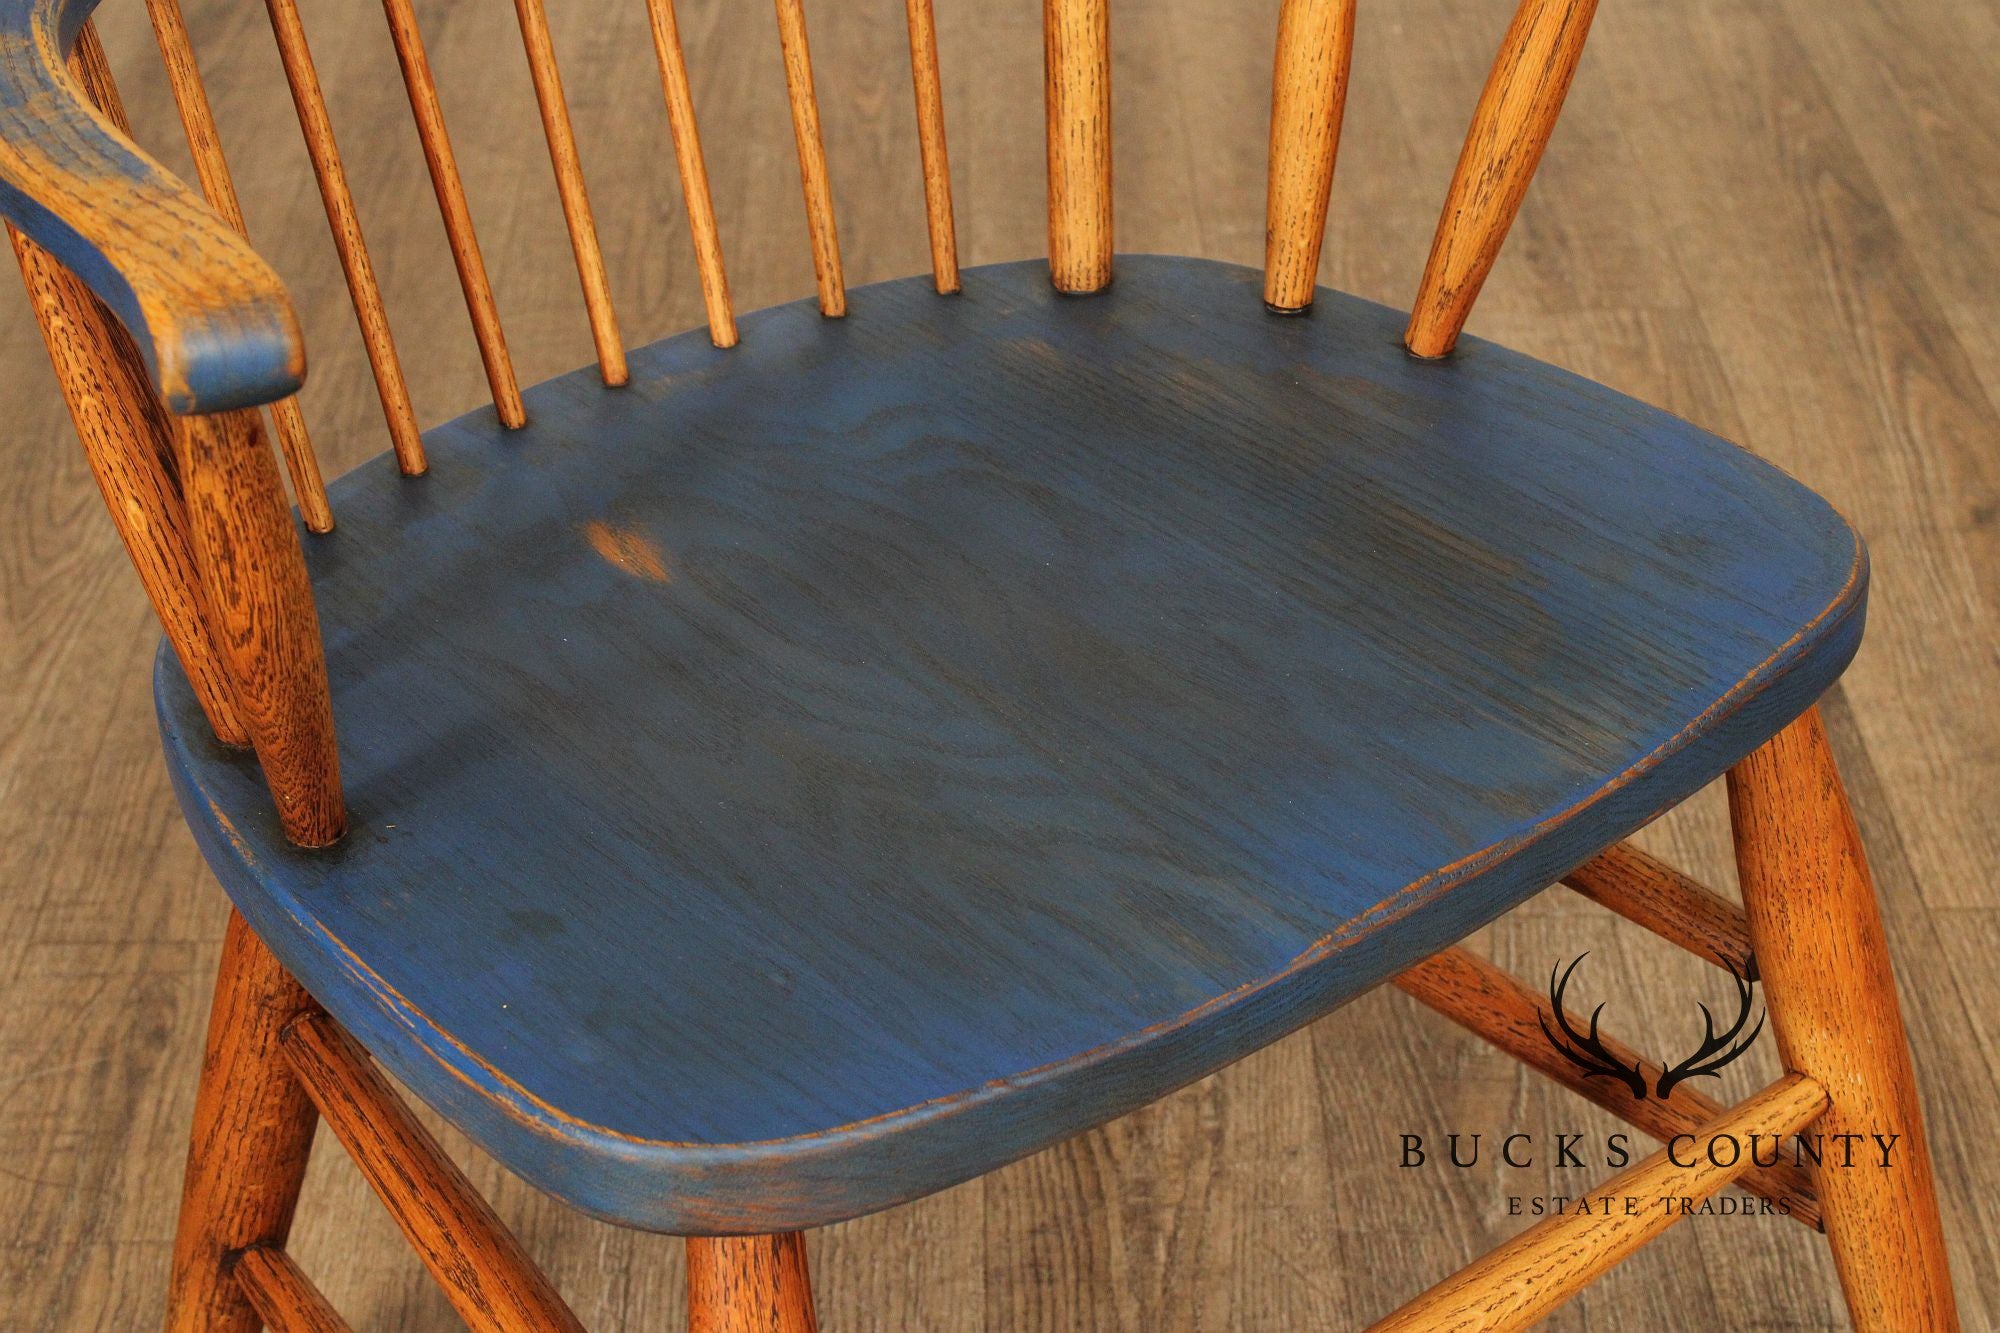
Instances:
[[[1108,0],[1042,0],[1048,278],[1084,296],[1112,280],[1112,20]]]

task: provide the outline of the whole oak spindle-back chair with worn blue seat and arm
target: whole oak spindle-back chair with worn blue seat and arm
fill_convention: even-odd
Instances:
[[[1460,342],[1594,2],[1520,0],[1404,320],[1314,286],[1354,0],[1282,2],[1262,274],[1114,260],[1104,0],[1044,4],[1048,266],[960,272],[906,0],[934,266],[854,292],[778,0],[818,292],[740,324],[674,4],[644,2],[708,328],[624,346],[516,0],[596,348],[522,390],[384,0],[492,386],[418,430],[300,8],[266,0],[390,442],[328,488],[178,0],[146,4],[200,194],[128,138],[96,0],[0,0],[0,210],[236,909],[170,1327],[344,1327],[284,1249],[318,1119],[468,1325],[576,1327],[376,1063],[556,1197],[686,1235],[692,1327],[810,1329],[802,1229],[1384,981],[1658,1139],[1902,1135],[1892,1169],[1662,1153],[1604,1189],[1780,1199],[1856,1327],[1956,1327],[1814,711],[1860,540],[1724,440]],[[1724,773],[1742,909],[1620,841]],[[1456,945],[1558,881],[1754,967],[1788,1073],[1722,1107],[1564,1063],[1552,1003]],[[1544,1221],[1380,1327],[1528,1325],[1668,1223]]]

